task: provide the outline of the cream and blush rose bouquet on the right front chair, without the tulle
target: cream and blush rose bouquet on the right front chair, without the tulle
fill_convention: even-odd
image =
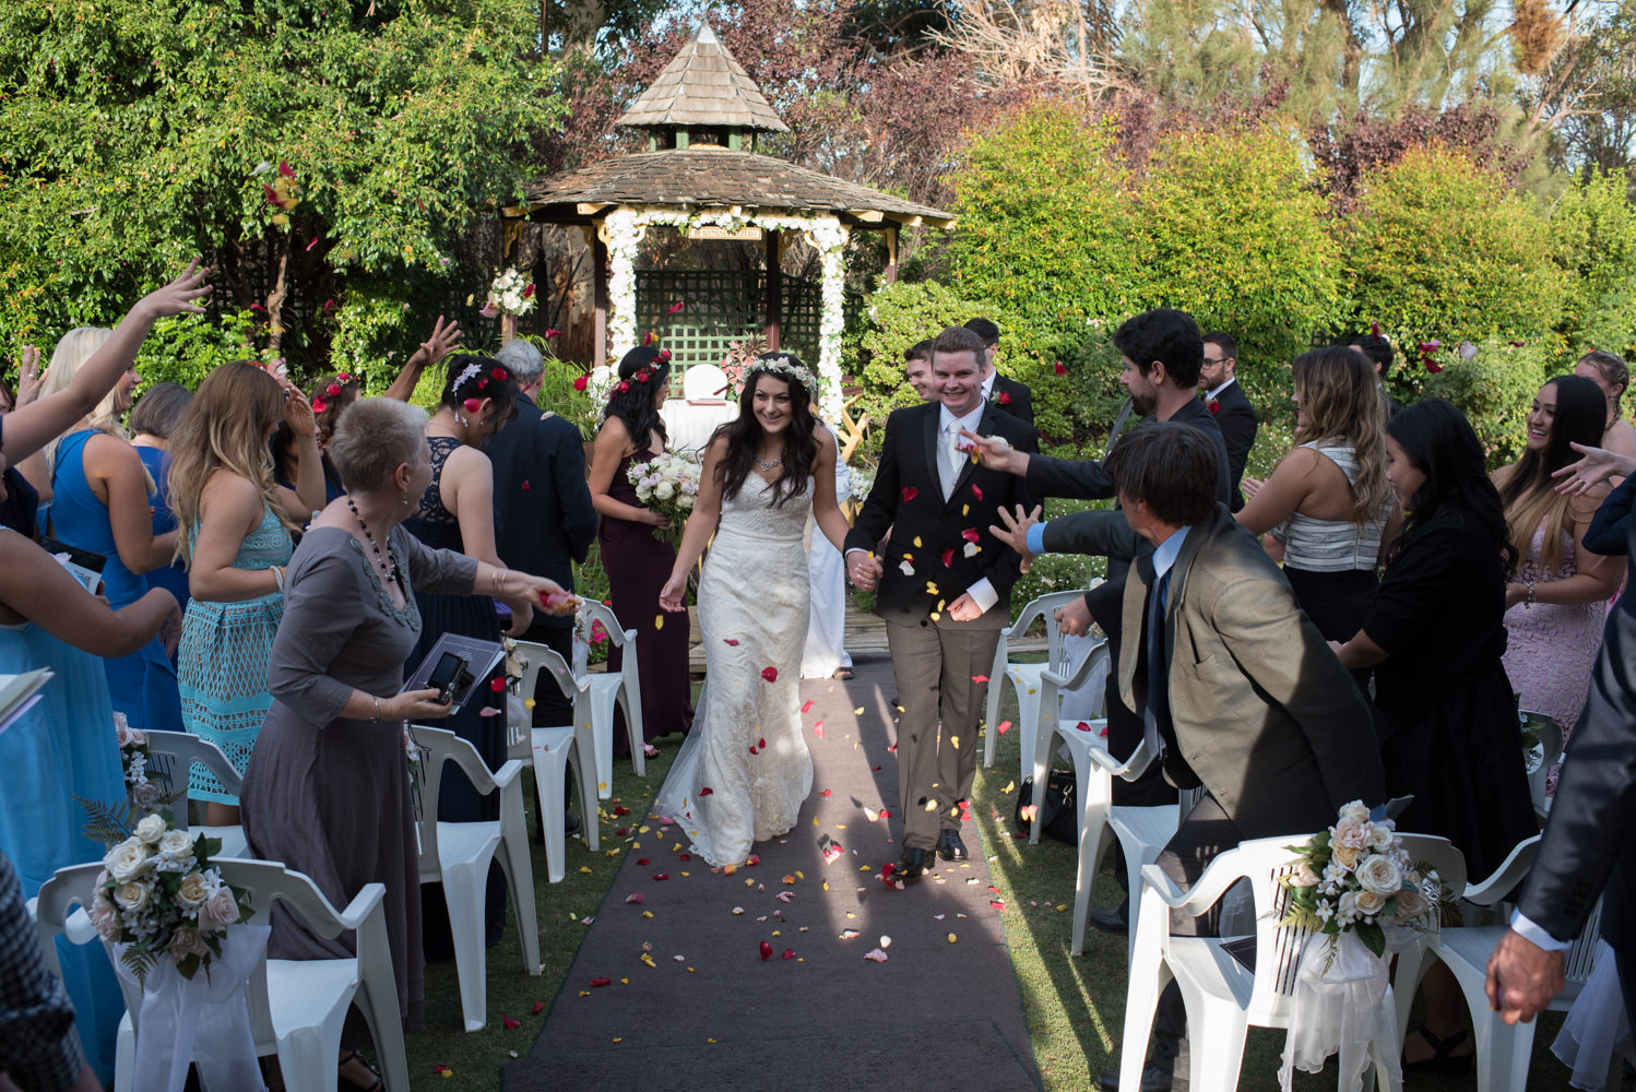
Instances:
[[[1386,925],[1428,929],[1436,920],[1436,873],[1415,870],[1396,830],[1391,819],[1369,819],[1355,799],[1328,830],[1291,847],[1296,866],[1279,879],[1289,889],[1283,924],[1330,937],[1330,960],[1342,933],[1356,933],[1381,956]]]

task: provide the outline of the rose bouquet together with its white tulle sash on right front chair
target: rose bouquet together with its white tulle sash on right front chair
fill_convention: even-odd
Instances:
[[[1392,1087],[1400,1087],[1400,1045],[1391,1005],[1391,955],[1436,929],[1438,878],[1415,868],[1391,819],[1373,819],[1361,801],[1306,845],[1279,883],[1288,889],[1284,925],[1310,930],[1292,991],[1279,1085],[1294,1069],[1320,1072],[1340,1054],[1342,1089],[1360,1089],[1371,1045]]]

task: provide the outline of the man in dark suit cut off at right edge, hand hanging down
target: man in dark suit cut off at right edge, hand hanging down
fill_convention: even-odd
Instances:
[[[1616,474],[1636,459],[1592,451]],[[1585,459],[1592,463],[1592,459]],[[1582,468],[1584,469],[1584,468]],[[1626,477],[1626,481],[1633,481]],[[1636,580],[1636,520],[1626,528],[1626,589]],[[1602,938],[1615,951],[1625,1010],[1636,1012],[1636,595],[1608,611],[1574,745],[1528,871],[1512,929],[1489,960],[1489,1007],[1508,1023],[1533,1020],[1562,992],[1564,951],[1597,897]]]

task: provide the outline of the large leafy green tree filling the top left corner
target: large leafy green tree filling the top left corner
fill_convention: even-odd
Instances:
[[[406,311],[484,278],[468,232],[561,111],[535,34],[522,0],[5,5],[0,340],[105,322],[203,253],[270,355],[406,347],[432,317]]]

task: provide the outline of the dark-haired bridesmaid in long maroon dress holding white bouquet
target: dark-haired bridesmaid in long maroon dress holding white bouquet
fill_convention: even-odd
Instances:
[[[641,507],[627,477],[631,463],[646,463],[664,451],[659,404],[669,386],[669,358],[649,345],[625,353],[591,454],[591,503],[602,517],[597,541],[614,613],[622,626],[636,631],[645,741],[685,732],[694,723],[687,626],[659,621],[664,613],[659,592],[676,564],[676,546],[658,533],[669,520]],[[612,649],[609,670],[618,670],[622,660],[620,649]],[[617,714],[614,749],[622,752],[625,747],[625,719]]]

